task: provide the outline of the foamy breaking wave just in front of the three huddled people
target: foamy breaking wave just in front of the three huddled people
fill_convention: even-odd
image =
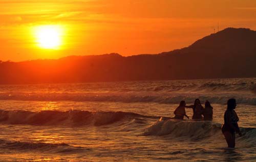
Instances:
[[[256,128],[240,127],[243,136],[239,140],[256,142]],[[190,139],[193,141],[208,138],[223,138],[221,124],[211,121],[191,120],[159,120],[146,128],[145,136],[169,136],[175,139]]]

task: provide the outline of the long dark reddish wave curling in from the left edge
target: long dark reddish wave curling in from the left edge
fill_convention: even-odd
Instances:
[[[129,120],[143,116],[125,112],[89,112],[89,111],[4,111],[0,110],[0,123],[30,125],[93,125],[101,126],[121,120]],[[154,118],[154,117],[151,117]]]

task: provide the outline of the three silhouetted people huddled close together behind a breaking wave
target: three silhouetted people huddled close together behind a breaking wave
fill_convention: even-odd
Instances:
[[[184,116],[189,119],[189,117],[186,115],[185,108],[191,108],[193,109],[193,117],[192,119],[195,120],[212,120],[212,106],[210,105],[209,101],[205,102],[205,107],[201,105],[200,100],[197,98],[194,102],[194,104],[187,106],[186,102],[180,101],[180,105],[176,108],[174,111],[175,117],[174,119],[183,119]]]

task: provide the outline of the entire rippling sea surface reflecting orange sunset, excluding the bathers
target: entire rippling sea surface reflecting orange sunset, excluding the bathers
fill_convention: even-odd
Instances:
[[[233,150],[221,133],[231,97]],[[195,98],[211,102],[212,122],[169,119]],[[256,78],[0,85],[0,161],[168,160],[255,161]]]

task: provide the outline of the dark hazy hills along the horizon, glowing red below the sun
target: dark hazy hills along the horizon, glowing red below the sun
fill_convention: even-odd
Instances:
[[[159,42],[161,43],[161,42]],[[256,77],[256,31],[227,28],[156,55],[1,62],[1,84]]]

